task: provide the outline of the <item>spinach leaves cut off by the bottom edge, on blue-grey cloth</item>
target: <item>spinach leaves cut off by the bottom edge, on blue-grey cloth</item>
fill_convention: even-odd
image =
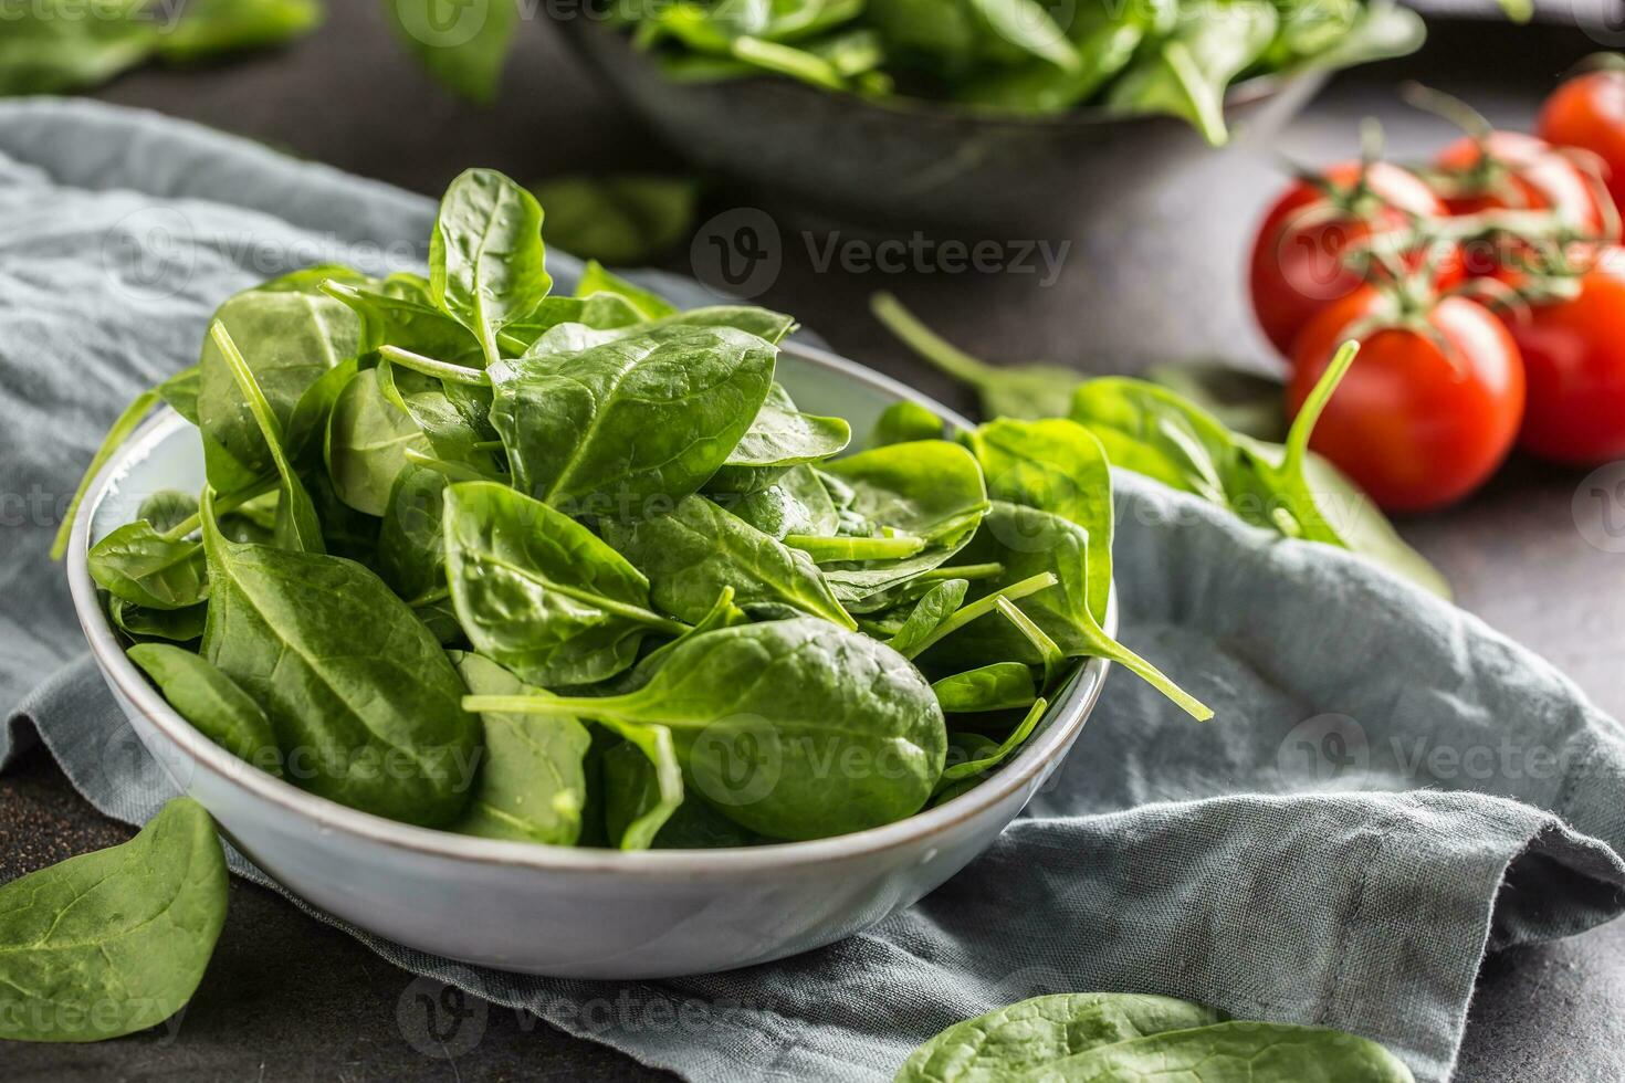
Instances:
[[[1250,1023],[1172,997],[1035,997],[956,1023],[895,1083],[1412,1083],[1376,1042],[1321,1026]]]

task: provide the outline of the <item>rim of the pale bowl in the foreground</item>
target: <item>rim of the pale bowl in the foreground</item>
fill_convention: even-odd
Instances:
[[[925,406],[949,425],[957,429],[972,427],[956,411],[936,403],[930,396],[853,360],[800,343],[785,343],[782,351],[816,367],[832,370],[848,380],[864,383],[892,398]],[[125,656],[124,648],[119,646],[119,640],[98,596],[98,588],[89,575],[91,528],[102,502],[114,492],[117,482],[125,477],[128,469],[145,460],[156,445],[167,440],[180,427],[190,427],[190,422],[172,409],[164,408],[132,434],[130,440],[109,458],[91,482],[81,502],[78,521],[73,524],[67,559],[68,586],[73,596],[75,614],[78,615],[80,627],[84,630],[84,638],[89,643],[98,669],[159,734],[185,755],[187,763],[193,770],[206,771],[228,786],[247,789],[254,797],[276,805],[299,820],[314,822],[323,830],[344,831],[393,849],[476,865],[507,865],[535,869],[538,872],[668,877],[790,869],[829,861],[848,861],[913,846],[986,813],[1048,768],[1060,757],[1061,750],[1071,745],[1094,711],[1110,667],[1102,658],[1090,658],[1079,666],[1053,698],[1050,721],[1038,729],[1035,737],[1003,770],[980,786],[936,809],[925,809],[894,823],[850,835],[728,849],[619,851],[484,839],[400,823],[307,792],[292,783],[266,774],[239,760],[205,737],[169,706],[162,695],[136,671],[135,664]],[[1108,633],[1115,633],[1116,617],[1116,596],[1113,591],[1112,609],[1105,622]],[[187,786],[187,789],[190,791],[192,787]]]

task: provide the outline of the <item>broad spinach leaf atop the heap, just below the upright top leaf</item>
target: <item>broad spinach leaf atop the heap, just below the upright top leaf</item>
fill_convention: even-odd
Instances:
[[[491,424],[522,492],[575,515],[639,518],[728,460],[767,398],[775,356],[733,328],[668,326],[505,360],[491,370]]]

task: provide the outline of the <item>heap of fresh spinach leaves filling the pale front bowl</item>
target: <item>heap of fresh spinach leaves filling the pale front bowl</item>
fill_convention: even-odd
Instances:
[[[902,406],[850,453],[775,380],[790,317],[679,312],[600,266],[554,296],[541,224],[471,170],[427,278],[231,297],[114,425],[96,464],[156,401],[198,427],[200,497],[89,554],[198,731],[377,815],[630,849],[913,815],[1012,755],[1082,658],[1209,714],[1103,630],[1086,427],[947,440]]]

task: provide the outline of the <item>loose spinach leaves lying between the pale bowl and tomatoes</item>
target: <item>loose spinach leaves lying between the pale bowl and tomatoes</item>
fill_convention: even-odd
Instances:
[[[1064,417],[1100,442],[1112,466],[1201,497],[1284,537],[1357,552],[1425,591],[1450,598],[1445,576],[1406,544],[1376,505],[1336,466],[1310,451],[1310,434],[1354,364],[1355,344],[1344,346],[1328,365],[1285,440],[1274,443],[1233,432],[1168,386],[1128,377],[1086,378],[1076,369],[1050,364],[990,365],[931,331],[890,294],[878,294],[873,307],[881,323],[920,357],[975,390],[988,416]],[[1058,455],[1064,461],[1064,453],[1040,438],[1017,442],[1009,461],[1019,463],[1040,447],[1051,463]],[[1077,463],[1068,463],[1064,471],[1048,471],[1053,477],[1046,484],[1053,485],[1068,471],[1076,476],[1077,469]],[[1032,477],[1043,474],[1027,469]]]

